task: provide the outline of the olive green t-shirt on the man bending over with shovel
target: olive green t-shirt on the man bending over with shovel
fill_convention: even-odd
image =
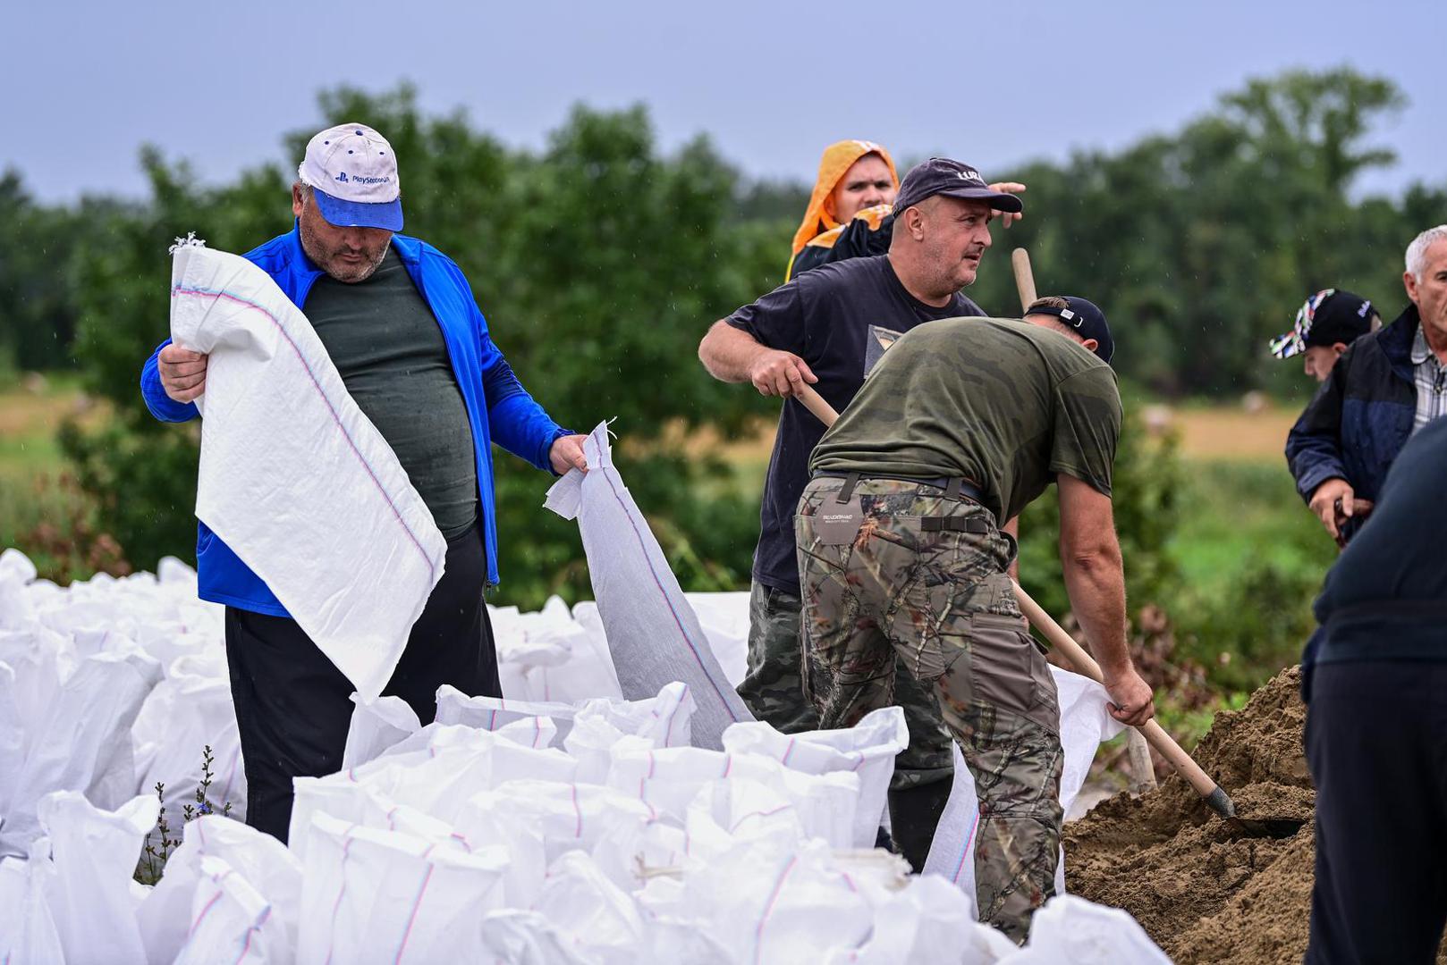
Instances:
[[[884,353],[809,469],[964,476],[1004,522],[1058,473],[1108,496],[1120,415],[1116,373],[1064,333],[946,318]]]

